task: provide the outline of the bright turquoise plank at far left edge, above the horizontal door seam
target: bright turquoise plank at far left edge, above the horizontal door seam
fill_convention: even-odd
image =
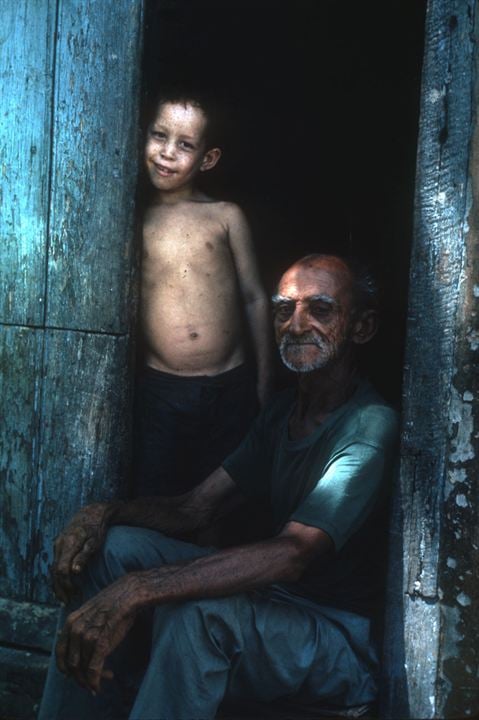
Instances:
[[[0,322],[20,325],[44,315],[55,14],[0,0]]]

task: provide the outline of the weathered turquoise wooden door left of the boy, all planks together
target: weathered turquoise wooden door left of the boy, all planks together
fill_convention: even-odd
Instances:
[[[141,36],[142,0],[0,0],[0,708],[19,717],[53,539],[128,463]]]

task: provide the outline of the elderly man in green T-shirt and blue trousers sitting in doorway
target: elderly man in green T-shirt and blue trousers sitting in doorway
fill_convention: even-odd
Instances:
[[[279,394],[190,493],[91,505],[74,517],[56,542],[54,583],[64,602],[79,586],[84,604],[60,634],[63,674],[52,663],[42,720],[122,716],[118,686],[131,679],[140,622],[149,622],[151,652],[135,720],[210,719],[225,698],[332,710],[374,701],[371,617],[397,417],[356,369],[355,350],[376,329],[373,295],[354,263],[299,260],[273,298],[297,388]],[[270,539],[220,551],[173,539],[244,498],[267,498]]]

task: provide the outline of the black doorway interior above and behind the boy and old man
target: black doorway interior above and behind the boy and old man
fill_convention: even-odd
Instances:
[[[149,0],[144,102],[162,83],[216,95],[229,133],[209,192],[251,222],[268,292],[309,252],[375,270],[365,356],[399,404],[425,0]],[[278,367],[279,383],[287,382]]]

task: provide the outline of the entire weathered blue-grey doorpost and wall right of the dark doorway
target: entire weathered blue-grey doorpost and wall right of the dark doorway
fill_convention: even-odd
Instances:
[[[479,711],[479,224],[474,0],[430,0],[384,715]]]

